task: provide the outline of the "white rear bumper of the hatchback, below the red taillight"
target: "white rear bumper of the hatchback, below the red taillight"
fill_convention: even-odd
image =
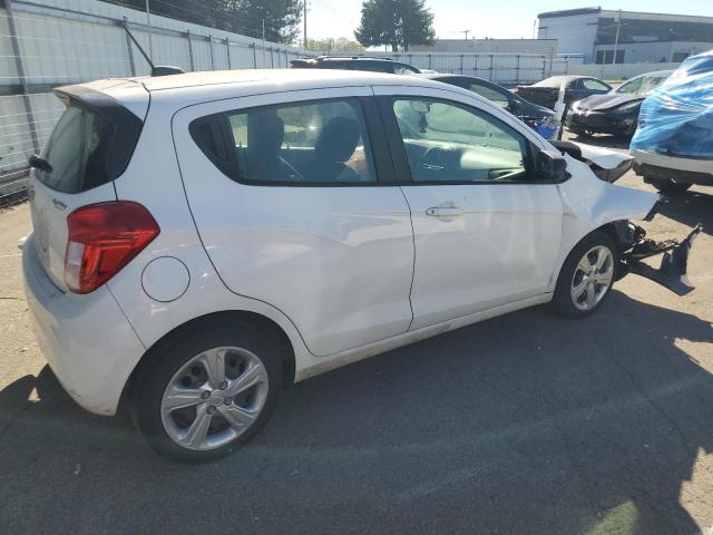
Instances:
[[[72,399],[90,412],[114,415],[145,348],[107,289],[61,292],[37,255],[33,236],[22,247],[28,309],[40,349]]]

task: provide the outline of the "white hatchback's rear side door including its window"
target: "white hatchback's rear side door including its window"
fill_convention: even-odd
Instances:
[[[226,286],[314,354],[408,330],[413,235],[369,88],[191,106],[173,120],[201,240]]]

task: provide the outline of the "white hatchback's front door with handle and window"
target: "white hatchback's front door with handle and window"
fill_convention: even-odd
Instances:
[[[546,294],[563,207],[533,169],[527,128],[451,91],[374,90],[411,207],[411,329]]]

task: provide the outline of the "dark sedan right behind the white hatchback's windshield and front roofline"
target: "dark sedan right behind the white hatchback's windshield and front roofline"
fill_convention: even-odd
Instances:
[[[480,95],[481,97],[491,100],[498,106],[507,109],[512,115],[518,117],[529,127],[540,132],[538,126],[546,119],[550,119],[555,114],[551,109],[537,104],[529,103],[522,97],[515,95],[512,91],[506,89],[502,86],[498,86],[482,78],[476,78],[475,76],[462,75],[447,75],[447,74],[423,74],[418,75],[420,78],[428,78],[430,80],[442,81],[443,84],[450,84],[451,86],[462,87],[472,93]],[[540,132],[541,134],[543,132]],[[554,137],[556,132],[545,137]]]

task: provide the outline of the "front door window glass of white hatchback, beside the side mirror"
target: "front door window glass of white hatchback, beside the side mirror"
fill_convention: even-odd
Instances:
[[[527,140],[485,111],[443,100],[398,98],[393,113],[416,182],[527,177]]]

